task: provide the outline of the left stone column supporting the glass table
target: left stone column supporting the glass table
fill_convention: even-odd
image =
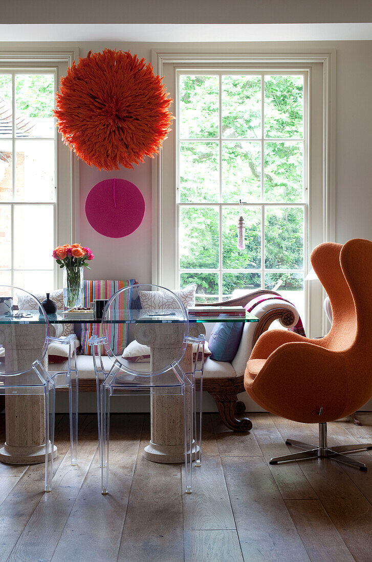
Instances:
[[[45,326],[37,324],[2,325],[1,343],[5,348],[8,372],[27,369],[37,358],[45,338]],[[44,357],[48,369],[48,358]],[[18,375],[18,382],[27,375]],[[36,374],[35,374],[36,379]],[[32,392],[29,389],[29,392]],[[45,398],[42,388],[35,393],[5,395],[6,442],[0,449],[0,461],[8,464],[37,464],[45,462]],[[49,448],[51,444],[49,443]],[[57,456],[54,447],[53,458]]]

